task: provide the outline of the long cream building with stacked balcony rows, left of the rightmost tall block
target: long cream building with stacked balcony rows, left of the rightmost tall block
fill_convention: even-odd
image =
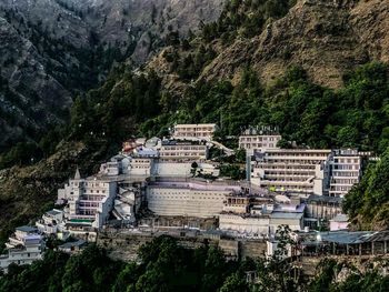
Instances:
[[[271,191],[323,194],[331,150],[261,149],[248,161],[252,184]]]

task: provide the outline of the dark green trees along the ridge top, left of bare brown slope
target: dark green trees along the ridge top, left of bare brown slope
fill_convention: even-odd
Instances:
[[[184,82],[199,78],[216,57],[217,47],[227,47],[237,39],[260,34],[273,19],[283,17],[296,4],[296,0],[231,0],[227,1],[219,19],[202,23],[198,38],[181,39],[177,31],[166,38],[168,48],[163,58],[170,64],[170,72]]]

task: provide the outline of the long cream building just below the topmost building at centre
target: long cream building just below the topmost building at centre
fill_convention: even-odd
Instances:
[[[161,161],[205,161],[208,145],[200,141],[163,140],[159,157]]]

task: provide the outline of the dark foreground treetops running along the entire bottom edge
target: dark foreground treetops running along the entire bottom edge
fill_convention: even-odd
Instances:
[[[333,260],[322,261],[309,282],[296,278],[299,273],[295,273],[293,264],[283,260],[286,246],[293,244],[289,232],[286,226],[278,230],[279,250],[272,258],[240,262],[227,260],[213,245],[206,243],[190,250],[166,235],[142,245],[138,262],[112,261],[106,250],[96,245],[73,256],[49,250],[43,260],[31,265],[11,265],[7,275],[0,275],[0,291],[386,291],[389,276],[381,275],[378,269],[362,273]],[[349,271],[345,280],[335,281],[345,268]],[[248,274],[255,275],[253,281],[247,281]]]

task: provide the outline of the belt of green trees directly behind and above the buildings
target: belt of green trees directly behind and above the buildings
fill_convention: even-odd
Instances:
[[[81,141],[90,155],[98,151],[103,158],[118,151],[121,141],[131,134],[163,137],[176,122],[219,121],[221,141],[238,135],[250,124],[271,124],[279,127],[286,140],[283,144],[296,141],[311,148],[355,147],[383,153],[389,145],[387,70],[382,63],[368,63],[345,77],[343,89],[330,90],[312,83],[298,67],[265,88],[248,68],[236,87],[229,81],[198,81],[181,97],[174,97],[161,85],[156,73],[133,74],[123,67],[103,87],[77,98],[71,122],[54,131],[57,135],[50,133],[43,138],[38,149],[32,145],[32,152],[18,147],[18,151],[0,157],[0,165],[31,163],[33,153],[38,158],[49,157],[58,151],[57,143],[61,140]],[[222,172],[243,178],[238,168],[226,165]],[[355,218],[360,205],[367,210],[375,205],[371,212],[382,219],[385,212],[378,210],[386,210],[388,198],[380,195],[378,201],[379,204],[353,202],[351,205],[358,208],[346,210]]]

